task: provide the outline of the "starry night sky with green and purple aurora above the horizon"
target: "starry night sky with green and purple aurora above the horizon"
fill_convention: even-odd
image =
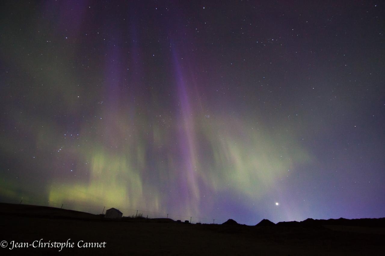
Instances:
[[[384,217],[382,1],[0,10],[0,201],[193,222]]]

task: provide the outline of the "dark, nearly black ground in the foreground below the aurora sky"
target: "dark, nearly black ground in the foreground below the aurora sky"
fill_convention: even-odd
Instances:
[[[185,224],[171,219],[108,221],[42,206],[0,203],[1,255],[383,255],[384,226]],[[33,248],[35,240],[74,248]],[[28,248],[12,248],[28,243]],[[79,248],[77,243],[105,248]],[[38,245],[35,242],[35,245]],[[80,242],[80,246],[84,245]]]

